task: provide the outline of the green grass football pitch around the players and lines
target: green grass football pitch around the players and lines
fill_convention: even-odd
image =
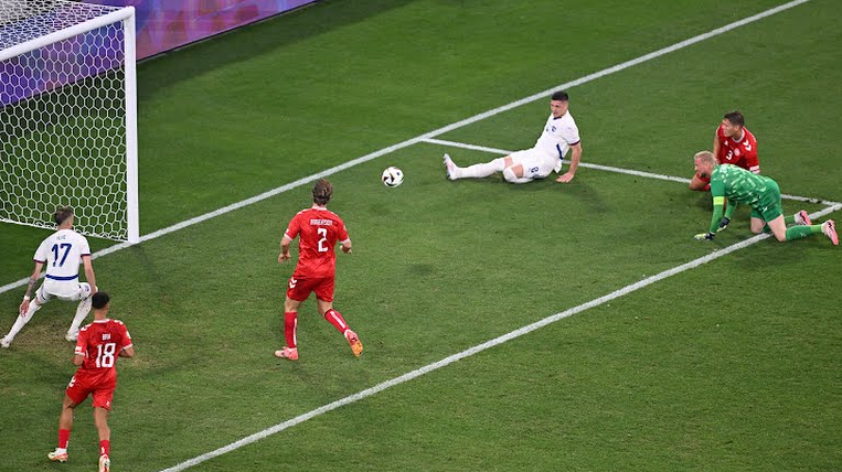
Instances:
[[[164,54],[138,67],[141,234],[780,2],[328,0]],[[841,23],[812,0],[571,87],[583,162],[689,178],[738,108],[784,193],[842,201]],[[437,138],[523,149],[547,114],[542,98]],[[494,157],[418,142],[330,176],[354,242],[335,307],[360,360],[312,300],[300,361],[271,355],[292,270],[278,242],[308,184],[97,258],[137,350],[119,362],[113,470],[175,466],[752,236],[738,208],[694,242],[710,199],[679,182],[593,168],[568,185],[448,182],[444,152]],[[387,165],[402,186],[382,185]],[[0,285],[30,273],[47,234],[0,225]],[[761,240],[186,470],[836,470],[840,250]],[[0,293],[3,332],[22,292]],[[0,352],[0,470],[95,468],[89,401],[71,460],[46,460],[74,311],[50,303]]]

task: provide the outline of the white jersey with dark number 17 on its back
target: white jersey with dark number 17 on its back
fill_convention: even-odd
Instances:
[[[44,264],[49,280],[76,280],[83,256],[90,256],[85,236],[73,229],[58,229],[41,243],[34,259]]]

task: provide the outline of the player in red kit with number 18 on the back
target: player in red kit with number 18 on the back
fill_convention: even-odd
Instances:
[[[74,408],[90,395],[94,398],[94,423],[99,435],[99,472],[108,472],[111,465],[108,458],[111,444],[108,412],[117,387],[117,357],[134,357],[135,347],[126,325],[107,318],[111,307],[108,293],[96,292],[90,299],[94,322],[79,330],[73,356],[73,363],[79,368],[65,390],[62,416],[58,418],[58,447],[47,457],[52,461],[67,461]]]

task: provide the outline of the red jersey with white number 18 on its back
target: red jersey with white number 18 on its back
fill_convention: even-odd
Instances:
[[[131,346],[131,336],[119,320],[94,320],[79,330],[76,354],[85,357],[77,374],[95,378],[96,383],[117,382],[117,356]]]

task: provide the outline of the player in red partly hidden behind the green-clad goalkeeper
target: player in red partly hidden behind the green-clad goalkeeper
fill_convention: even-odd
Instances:
[[[734,164],[749,172],[760,173],[757,159],[757,140],[745,128],[746,120],[739,111],[729,111],[722,118],[713,138],[713,155],[721,164]],[[708,191],[711,180],[697,173],[690,181],[690,190]]]

